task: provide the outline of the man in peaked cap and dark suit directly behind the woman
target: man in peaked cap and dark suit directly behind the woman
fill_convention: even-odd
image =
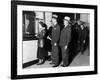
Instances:
[[[53,64],[53,67],[57,67],[59,65],[59,51],[58,51],[58,43],[60,38],[60,26],[57,23],[57,15],[52,16],[52,52],[51,52],[51,60],[50,64]]]

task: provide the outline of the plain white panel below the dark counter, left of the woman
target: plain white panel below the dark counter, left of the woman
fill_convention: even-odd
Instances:
[[[37,59],[37,40],[23,41],[23,63]]]

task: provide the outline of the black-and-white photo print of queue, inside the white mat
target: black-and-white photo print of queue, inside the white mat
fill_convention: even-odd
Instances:
[[[88,13],[23,11],[23,68],[90,65]],[[32,61],[32,65],[25,65]]]

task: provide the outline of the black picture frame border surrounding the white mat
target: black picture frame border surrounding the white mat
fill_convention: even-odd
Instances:
[[[84,72],[68,72],[68,73],[50,73],[50,74],[31,74],[17,75],[17,5],[36,5],[49,7],[69,7],[94,9],[94,71]],[[60,77],[60,76],[78,76],[97,74],[97,5],[84,4],[64,4],[64,3],[49,3],[35,1],[11,1],[11,79],[26,79],[26,78],[43,78],[43,77]]]

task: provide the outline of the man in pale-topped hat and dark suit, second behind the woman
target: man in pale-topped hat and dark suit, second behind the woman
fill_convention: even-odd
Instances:
[[[70,17],[64,17],[64,28],[61,31],[59,45],[62,52],[62,65],[63,67],[68,66],[69,60],[69,43],[71,40],[71,26],[69,24]]]

